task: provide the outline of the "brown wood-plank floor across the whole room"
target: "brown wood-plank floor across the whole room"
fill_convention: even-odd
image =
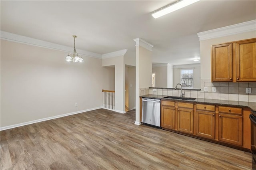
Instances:
[[[88,111],[1,131],[1,170],[252,169],[251,154]]]

